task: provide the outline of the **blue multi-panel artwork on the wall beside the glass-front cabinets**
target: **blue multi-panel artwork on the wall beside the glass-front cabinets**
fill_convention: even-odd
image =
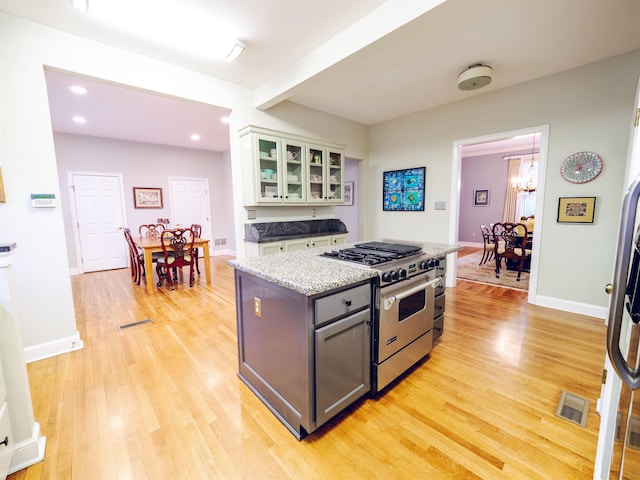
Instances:
[[[382,210],[424,211],[426,167],[383,172]]]

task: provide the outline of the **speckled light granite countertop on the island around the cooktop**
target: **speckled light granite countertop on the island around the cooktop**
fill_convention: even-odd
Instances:
[[[413,242],[404,243],[416,245]],[[463,248],[457,245],[438,243],[423,243],[419,245],[428,258],[443,257],[449,253],[458,252]],[[328,250],[340,250],[351,246],[353,245],[338,245],[263,255],[242,260],[230,260],[229,265],[310,297],[369,280],[377,275],[375,269],[320,256]]]

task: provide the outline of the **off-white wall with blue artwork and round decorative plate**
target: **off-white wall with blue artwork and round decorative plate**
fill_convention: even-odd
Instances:
[[[561,301],[575,311],[602,313],[608,304],[604,285],[611,279],[622,184],[634,98],[640,75],[640,50],[478,95],[371,128],[369,158],[372,203],[381,203],[382,172],[394,167],[426,165],[426,210],[381,212],[371,216],[372,237],[399,232],[407,239],[449,243],[456,212],[449,205],[452,142],[498,132],[549,124],[536,303]],[[593,182],[573,185],[559,175],[568,155],[593,151],[604,159]],[[596,196],[593,225],[556,223],[558,197]]]

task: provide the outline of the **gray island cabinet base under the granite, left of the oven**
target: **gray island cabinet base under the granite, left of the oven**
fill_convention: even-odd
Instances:
[[[371,281],[307,296],[235,280],[238,376],[297,438],[370,391]]]

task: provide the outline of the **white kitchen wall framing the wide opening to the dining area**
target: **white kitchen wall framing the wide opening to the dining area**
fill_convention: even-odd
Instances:
[[[46,346],[60,353],[78,345],[62,209],[32,209],[29,203],[34,192],[60,198],[45,68],[232,110],[233,218],[236,232],[241,232],[237,243],[246,219],[239,202],[239,129],[255,124],[344,143],[347,154],[355,158],[366,158],[368,151],[364,125],[288,103],[259,112],[253,108],[252,92],[237,85],[4,13],[0,63],[0,167],[8,196],[7,203],[0,204],[0,242],[18,243],[13,264],[16,305],[27,349]],[[225,201],[230,193],[221,193]]]

